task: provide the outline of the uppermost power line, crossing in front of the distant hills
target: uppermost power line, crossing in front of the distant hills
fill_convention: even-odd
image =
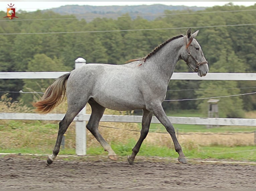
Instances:
[[[128,16],[104,16],[103,18],[116,18],[116,17],[134,17],[134,16],[171,16],[171,15],[190,15],[190,14],[210,14],[210,13],[228,13],[228,12],[245,12],[256,11],[256,9],[249,10],[233,10],[233,11],[209,11],[209,12],[190,12],[190,13],[170,13],[170,14],[142,14],[142,15],[128,15]],[[50,18],[50,19],[16,19],[13,21],[43,21],[43,20],[70,20],[70,19],[95,19],[101,17],[75,17],[75,18]],[[0,20],[0,22],[8,22],[10,20]]]

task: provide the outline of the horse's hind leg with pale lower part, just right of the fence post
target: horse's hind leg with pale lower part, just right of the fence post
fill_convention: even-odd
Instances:
[[[88,103],[92,107],[92,114],[90,116],[89,122],[86,125],[87,129],[100,142],[100,144],[103,146],[104,150],[108,152],[108,157],[112,160],[117,160],[116,153],[113,151],[111,146],[105,141],[105,139],[101,136],[99,129],[98,129],[100,119],[101,119],[106,108],[91,99],[88,101]]]

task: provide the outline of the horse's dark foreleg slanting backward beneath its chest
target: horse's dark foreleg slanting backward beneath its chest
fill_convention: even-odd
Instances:
[[[148,134],[148,130],[149,130],[150,122],[151,122],[151,119],[152,119],[152,115],[153,115],[152,112],[150,112],[146,109],[143,109],[142,128],[141,128],[141,131],[140,131],[140,138],[137,141],[136,145],[133,147],[132,154],[130,156],[128,156],[128,162],[130,164],[133,164],[135,156],[139,152],[140,146],[141,146],[143,140],[146,138],[146,136]]]

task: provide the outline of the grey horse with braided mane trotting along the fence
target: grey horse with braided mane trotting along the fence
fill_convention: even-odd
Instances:
[[[65,99],[68,103],[67,112],[59,122],[52,154],[47,156],[47,163],[51,164],[55,160],[63,134],[87,102],[91,105],[92,113],[86,127],[108,152],[108,158],[117,160],[116,153],[98,130],[105,109],[142,109],[140,137],[132,149],[132,154],[127,156],[129,164],[134,164],[140,146],[148,134],[153,114],[170,134],[175,151],[179,155],[178,161],[187,163],[175,129],[163,110],[162,102],[178,60],[185,61],[198,76],[207,75],[208,62],[195,39],[198,32],[192,34],[189,28],[185,36],[172,37],[144,58],[130,60],[127,64],[86,64],[57,78],[46,89],[41,100],[33,103],[39,113],[50,112]]]

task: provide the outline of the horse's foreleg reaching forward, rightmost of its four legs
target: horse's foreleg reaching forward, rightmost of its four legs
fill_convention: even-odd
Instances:
[[[170,122],[170,120],[167,118],[162,105],[154,105],[152,107],[153,113],[156,116],[156,118],[163,124],[163,126],[166,128],[167,132],[171,135],[175,151],[179,154],[178,161],[182,163],[187,163],[186,157],[183,154],[182,148],[178,142],[178,139],[175,134],[175,129]]]

